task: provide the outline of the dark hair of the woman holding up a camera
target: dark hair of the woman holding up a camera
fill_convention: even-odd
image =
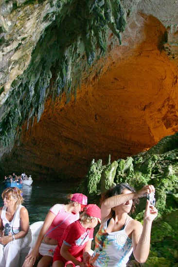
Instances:
[[[127,189],[127,190],[130,190],[132,193],[136,193],[134,187],[130,186],[129,184],[125,184],[125,183],[122,183],[122,184],[117,184],[116,186],[112,186],[111,188],[109,188],[101,197],[101,203],[110,198],[110,197],[113,197],[113,196],[117,196],[117,195],[121,195],[123,193],[123,190],[124,189]],[[136,209],[136,204],[139,203],[139,199],[133,199],[133,204],[132,204],[132,207],[131,207],[131,210],[129,212],[129,214],[132,214],[135,212],[135,209]],[[113,215],[112,217],[115,216],[115,212],[113,211]]]

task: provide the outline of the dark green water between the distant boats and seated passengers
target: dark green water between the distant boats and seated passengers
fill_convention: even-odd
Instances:
[[[44,220],[49,209],[56,203],[63,203],[65,197],[75,193],[77,183],[72,182],[43,182],[34,181],[32,186],[23,185],[23,205],[29,213],[30,224]],[[0,195],[3,191],[3,183],[0,183]],[[3,201],[0,198],[0,206]]]

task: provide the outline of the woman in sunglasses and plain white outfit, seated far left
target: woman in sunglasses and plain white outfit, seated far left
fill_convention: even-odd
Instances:
[[[28,211],[21,205],[22,192],[17,187],[6,188],[1,196],[4,206],[0,207],[0,267],[17,267],[19,252],[28,244]]]

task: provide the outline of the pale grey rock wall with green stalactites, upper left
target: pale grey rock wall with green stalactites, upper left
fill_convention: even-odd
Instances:
[[[39,121],[49,96],[76,94],[85,69],[106,52],[108,29],[121,42],[126,21],[120,0],[13,0],[0,11],[0,141],[12,148],[19,125]]]

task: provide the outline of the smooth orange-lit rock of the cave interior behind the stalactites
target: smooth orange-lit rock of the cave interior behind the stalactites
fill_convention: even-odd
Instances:
[[[82,177],[93,158],[104,164],[109,154],[112,161],[125,158],[178,131],[177,67],[158,49],[165,28],[155,17],[139,15],[130,36],[133,23],[121,47],[110,43],[76,100],[48,100],[40,121],[28,131],[24,125],[11,152],[12,169],[18,161],[36,177]]]

